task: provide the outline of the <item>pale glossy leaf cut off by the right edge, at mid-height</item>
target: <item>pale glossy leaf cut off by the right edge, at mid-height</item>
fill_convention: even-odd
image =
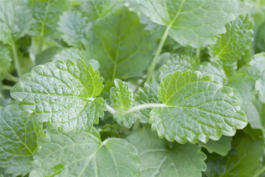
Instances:
[[[254,55],[238,73],[248,73],[256,80],[255,89],[259,92],[259,101],[265,103],[265,52]]]

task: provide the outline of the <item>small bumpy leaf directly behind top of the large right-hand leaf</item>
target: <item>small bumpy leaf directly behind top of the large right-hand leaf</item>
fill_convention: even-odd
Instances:
[[[164,78],[168,73],[173,74],[177,70],[183,72],[186,70],[194,71],[199,64],[200,60],[191,54],[172,54],[170,59],[159,69],[159,77]]]

